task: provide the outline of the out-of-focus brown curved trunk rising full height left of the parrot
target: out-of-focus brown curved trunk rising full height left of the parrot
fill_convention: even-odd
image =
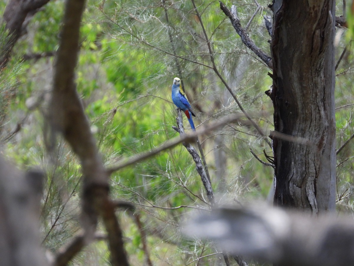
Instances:
[[[85,242],[93,239],[98,216],[101,216],[108,232],[111,264],[128,265],[114,204],[108,196],[108,174],[98,154],[96,140],[91,133],[74,82],[80,22],[84,8],[84,0],[68,0],[65,5],[61,40],[55,58],[49,122],[54,133],[63,134],[81,161],[84,177],[82,226],[85,230]],[[53,140],[48,147],[49,150],[55,146]]]

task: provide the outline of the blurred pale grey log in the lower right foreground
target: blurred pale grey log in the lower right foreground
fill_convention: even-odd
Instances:
[[[223,207],[189,220],[185,233],[216,241],[231,254],[278,265],[354,265],[352,217],[315,217],[262,204]]]

